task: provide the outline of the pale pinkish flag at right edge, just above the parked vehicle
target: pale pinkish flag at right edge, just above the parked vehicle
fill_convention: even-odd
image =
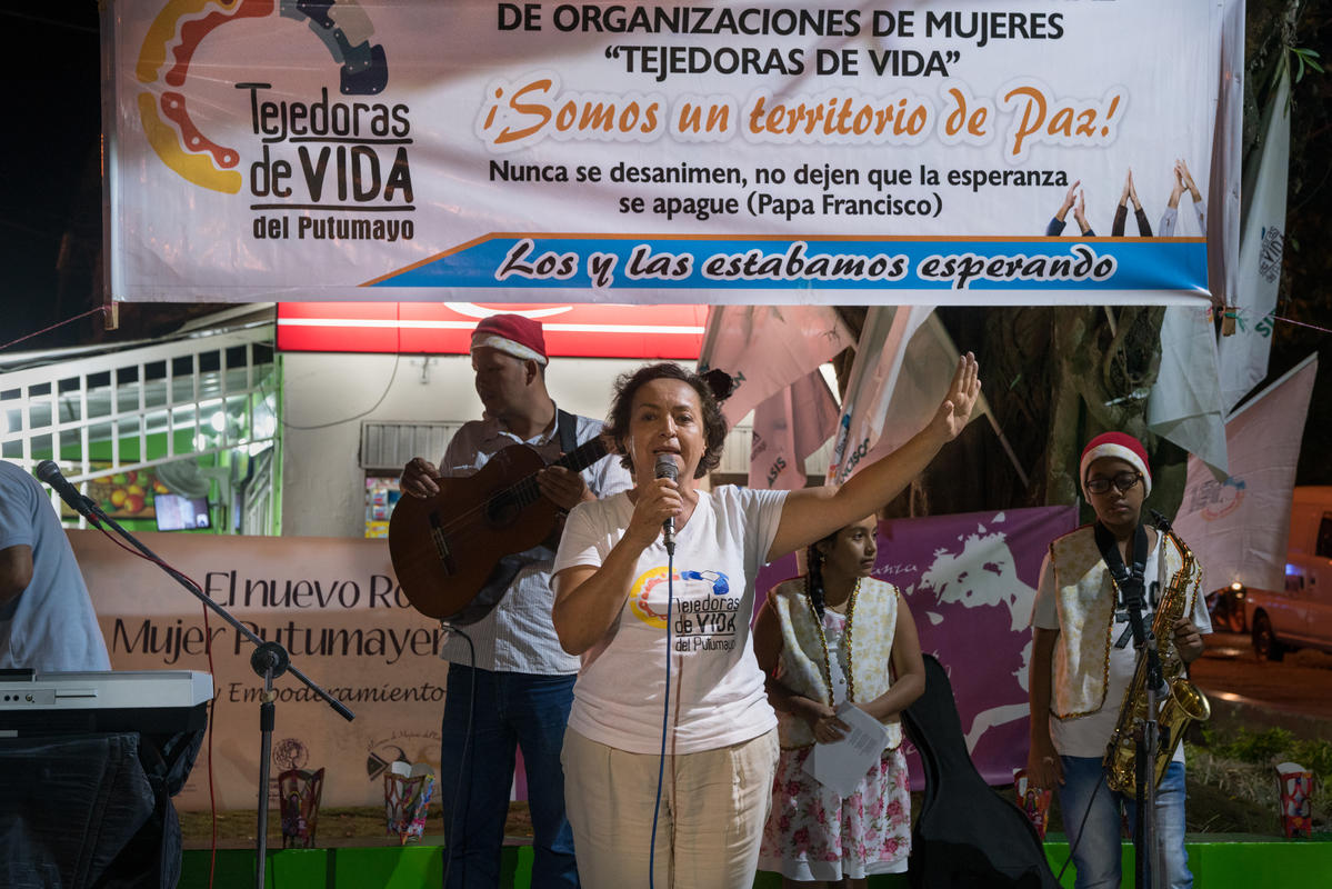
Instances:
[[[1224,481],[1189,457],[1175,529],[1203,565],[1203,589],[1285,588],[1291,490],[1317,368],[1309,356],[1231,416]]]

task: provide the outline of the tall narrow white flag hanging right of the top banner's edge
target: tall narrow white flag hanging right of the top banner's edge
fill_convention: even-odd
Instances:
[[[1267,376],[1272,349],[1272,309],[1281,281],[1281,249],[1285,243],[1285,185],[1291,161],[1289,72],[1263,111],[1263,149],[1244,177],[1249,200],[1240,235],[1240,267],[1236,283],[1236,328],[1219,344],[1221,400],[1232,411],[1240,399]]]

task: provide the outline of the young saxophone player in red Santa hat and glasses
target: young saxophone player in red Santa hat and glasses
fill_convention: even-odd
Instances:
[[[1107,772],[1103,760],[1111,738],[1120,737],[1120,710],[1138,705],[1126,700],[1136,697],[1138,653],[1123,590],[1140,585],[1146,609],[1152,612],[1143,621],[1156,630],[1167,676],[1171,666],[1181,676],[1201,656],[1203,634],[1212,626],[1197,594],[1201,572],[1192,553],[1175,534],[1142,521],[1152,486],[1142,443],[1118,432],[1092,439],[1083,450],[1079,478],[1096,521],[1055,540],[1040,572],[1031,621],[1027,776],[1036,786],[1058,792],[1078,868],[1076,886],[1092,889],[1120,884],[1126,794],[1122,776],[1114,768]],[[1162,620],[1154,620],[1159,604]],[[1156,845],[1166,872],[1162,885],[1187,889],[1193,877],[1184,849],[1184,748],[1177,734],[1172,732],[1175,737],[1167,741],[1163,733],[1163,745],[1172,746],[1173,756],[1166,753],[1168,765],[1164,757],[1162,762]],[[1132,824],[1136,812],[1132,800],[1127,802]]]

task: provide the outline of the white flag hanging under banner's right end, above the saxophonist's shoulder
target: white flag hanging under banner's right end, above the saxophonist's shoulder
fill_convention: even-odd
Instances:
[[[1225,474],[1225,409],[1211,307],[1166,308],[1160,372],[1147,399],[1147,427]]]

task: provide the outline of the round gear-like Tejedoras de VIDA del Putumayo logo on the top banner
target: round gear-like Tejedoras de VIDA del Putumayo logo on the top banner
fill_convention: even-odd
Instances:
[[[273,101],[273,84],[237,83],[260,140],[252,163],[242,149],[212,141],[190,119],[186,80],[198,45],[232,21],[276,15],[305,25],[338,68],[342,96],[374,96],[389,80],[384,47],[354,0],[170,0],[144,36],[135,75],[144,135],[169,169],[194,185],[229,195],[248,188],[258,239],[410,239],[410,120],[402,104],[338,101],[322,87],[309,101]],[[289,91],[284,91],[289,95]],[[302,213],[292,221],[282,211]],[[348,217],[346,213],[366,213]]]

